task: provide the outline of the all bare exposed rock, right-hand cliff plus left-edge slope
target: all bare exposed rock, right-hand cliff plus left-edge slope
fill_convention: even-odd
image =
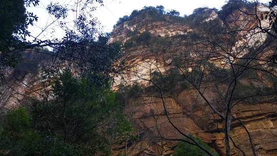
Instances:
[[[215,21],[224,24],[224,21],[219,17],[220,15],[212,10],[204,9],[202,14],[204,17],[199,19],[199,24],[203,24],[201,22]],[[165,19],[162,21],[149,21],[147,16],[141,21],[137,21],[138,18],[134,18],[114,28],[110,42],[120,41],[126,43],[134,35],[140,35],[145,31],[155,37],[168,37],[171,42],[170,46],[166,46],[164,42],[160,44],[157,42],[142,42],[126,48],[126,70],[122,71],[120,76],[114,77],[115,88],[122,83],[132,84],[135,81],[143,86],[149,86],[148,80],[151,72],[155,70],[165,72],[168,70],[170,68],[168,65],[171,63],[173,56],[183,54],[182,52],[187,49],[186,45],[193,37],[193,34],[195,32],[197,34],[200,31],[193,27],[192,24],[183,22],[179,17],[174,17],[174,20],[171,20],[168,15],[164,17]],[[197,21],[198,18],[195,16],[191,20]],[[251,23],[246,23],[245,26],[251,27]],[[255,32],[250,33],[255,34]],[[186,36],[187,34],[190,35]],[[259,34],[261,36],[259,41],[264,42],[266,40],[263,38],[264,34]],[[242,35],[247,36],[248,34]],[[247,40],[240,41],[238,45],[248,43],[247,41],[255,43],[257,40],[254,38],[249,37]],[[166,42],[169,41],[166,40]],[[248,51],[243,51],[242,53],[244,52],[247,53]],[[270,53],[271,49],[268,48],[267,52]],[[196,54],[191,51],[188,55],[192,57]],[[224,66],[222,63],[224,61],[220,59],[212,61],[216,66]],[[44,64],[42,60],[37,61],[36,68],[39,68],[40,64]],[[191,68],[188,71],[192,70]],[[19,74],[21,77],[16,77],[14,74],[16,74],[15,70],[7,69],[8,79],[4,85],[0,86],[1,111],[16,107],[25,97],[42,97],[39,91],[43,88],[41,83],[46,79],[42,73],[29,72]],[[258,83],[255,83],[256,80],[247,79],[241,80],[240,83],[246,85],[251,83],[257,85],[266,84],[266,86],[271,87],[272,82],[263,80],[262,76],[261,74],[259,76],[258,73],[258,78],[260,79]],[[207,99],[216,104],[217,109],[224,112],[224,109],[221,109],[222,101],[216,92],[214,84],[208,82],[202,85],[201,88],[205,88],[204,94]],[[173,87],[171,92],[164,94],[164,103],[159,95],[151,91],[146,91],[138,97],[127,99],[125,112],[134,123],[136,131],[133,134],[137,136],[137,140],[135,142],[122,141],[122,146],[116,145],[113,147],[113,155],[124,152],[127,155],[172,155],[177,141],[170,140],[183,138],[180,131],[199,136],[220,155],[225,155],[224,122],[211,111],[205,100],[199,96],[199,92],[192,86],[186,88],[182,88],[182,86]],[[163,104],[168,110],[168,116],[165,113]],[[250,103],[238,103],[233,107],[232,112],[233,120],[230,129],[230,138],[232,139],[230,143],[231,155],[243,155],[243,152],[245,155],[253,155],[250,148],[249,134],[258,155],[277,155],[276,96],[266,97]],[[168,117],[178,130],[172,126]]]

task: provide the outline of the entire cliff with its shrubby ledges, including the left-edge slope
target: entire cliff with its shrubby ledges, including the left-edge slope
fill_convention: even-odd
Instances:
[[[259,8],[259,13],[265,11],[263,6]],[[159,71],[160,74],[170,71],[175,65],[176,58],[180,58],[179,56],[182,56],[183,62],[189,64],[186,66],[187,72],[192,74],[197,64],[191,59],[200,61],[199,58],[207,57],[210,51],[216,51],[216,54],[213,53],[207,61],[211,66],[213,65],[214,69],[230,70],[230,64],[226,63],[226,54],[223,50],[210,45],[195,45],[194,41],[206,41],[206,30],[211,30],[210,33],[216,35],[212,35],[214,38],[209,38],[210,42],[221,41],[221,44],[226,43],[226,47],[231,50],[247,45],[247,48],[241,49],[240,52],[234,50],[236,53],[231,54],[233,60],[236,57],[243,57],[253,50],[251,47],[263,47],[268,40],[265,33],[250,31],[254,24],[247,18],[239,25],[249,28],[249,31],[236,33],[243,39],[236,40],[234,45],[228,47],[230,38],[234,38],[234,34],[224,36],[222,31],[231,24],[238,25],[236,22],[245,18],[246,15],[240,14],[239,11],[228,13],[209,8],[200,8],[188,17],[157,15],[149,13],[149,10],[143,10],[115,26],[110,42],[124,44],[125,52],[122,60],[125,66],[118,69],[117,72],[120,74],[114,77],[114,88],[124,96],[121,100],[125,104],[126,115],[136,129],[133,135],[137,136],[137,139],[127,141],[127,143],[122,141],[122,146],[114,146],[113,155],[125,151],[126,148],[127,155],[171,155],[177,142],[170,141],[170,139],[183,138],[177,129],[199,136],[220,155],[225,155],[224,121],[207,106],[199,91],[183,80],[175,81],[176,77],[173,77],[173,81],[172,77],[168,77],[166,83],[162,81],[160,84],[164,85],[163,89],[167,89],[164,90],[164,98],[161,98],[151,80],[154,71]],[[263,52],[259,53],[259,58],[268,59],[274,46],[276,46],[274,43],[268,44]],[[51,77],[41,70],[43,65],[51,65],[52,58],[46,56],[44,54],[25,55],[25,62],[22,66],[19,65],[16,69],[6,69],[7,79],[0,86],[1,111],[16,107],[26,97],[43,98],[41,90],[47,88],[46,80]],[[187,60],[184,61],[184,58]],[[27,63],[35,64],[30,64],[32,68],[24,67],[23,65]],[[275,67],[268,68],[273,68],[271,71],[276,75]],[[214,80],[223,79],[225,75],[222,72],[223,70],[221,73],[215,73],[211,80],[208,80],[211,74],[207,73],[207,80],[201,83],[200,89],[204,90],[203,94],[207,100],[224,113],[226,110],[219,91],[224,92],[226,84],[220,85],[219,89]],[[254,78],[250,76],[251,79],[247,74],[246,77],[238,80],[241,88],[235,96],[241,97],[241,94],[252,93],[253,88],[256,92],[265,93],[268,90],[274,90],[275,78],[269,79],[260,71],[255,72]],[[179,80],[179,78],[176,79]],[[134,85],[139,87],[133,92],[127,92],[128,89],[124,90],[124,87]],[[166,105],[169,118],[177,129],[169,123],[163,104]],[[246,129],[259,155],[277,155],[277,96],[243,100],[233,107],[232,115],[230,128],[232,155],[243,155],[242,151],[245,155],[253,155]]]

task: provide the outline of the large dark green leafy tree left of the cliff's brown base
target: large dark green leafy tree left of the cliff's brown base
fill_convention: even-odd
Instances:
[[[110,119],[116,112],[114,94],[107,87],[95,88],[87,79],[75,79],[66,72],[55,81],[54,100],[34,103],[35,127],[63,138],[68,144],[90,145],[88,152],[106,151],[105,143],[98,131],[98,124]],[[72,122],[74,120],[74,122]]]

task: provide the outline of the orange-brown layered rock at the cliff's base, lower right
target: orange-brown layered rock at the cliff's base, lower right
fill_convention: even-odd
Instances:
[[[210,94],[208,97],[212,98],[212,93]],[[223,122],[216,118],[216,114],[211,112],[204,101],[195,105],[196,97],[197,91],[193,89],[184,90],[176,97],[167,97],[165,101],[170,119],[182,132],[199,136],[220,155],[224,155],[224,133],[221,131]],[[236,118],[249,130],[259,155],[277,154],[276,100],[251,105],[240,104],[233,110]],[[132,99],[130,103],[132,106],[128,106],[127,112],[132,114],[136,128],[141,132],[142,141],[128,149],[129,155],[171,155],[176,142],[166,139],[180,139],[183,136],[168,122],[162,100],[145,97]],[[161,135],[166,139],[161,138]],[[252,155],[247,132],[239,121],[232,122],[230,135],[236,146],[242,148],[246,155]],[[232,144],[231,149],[232,155],[243,155]]]

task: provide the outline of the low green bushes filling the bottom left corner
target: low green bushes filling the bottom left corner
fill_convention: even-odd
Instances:
[[[0,130],[0,155],[82,155],[81,150],[35,130],[25,107],[4,116]]]

